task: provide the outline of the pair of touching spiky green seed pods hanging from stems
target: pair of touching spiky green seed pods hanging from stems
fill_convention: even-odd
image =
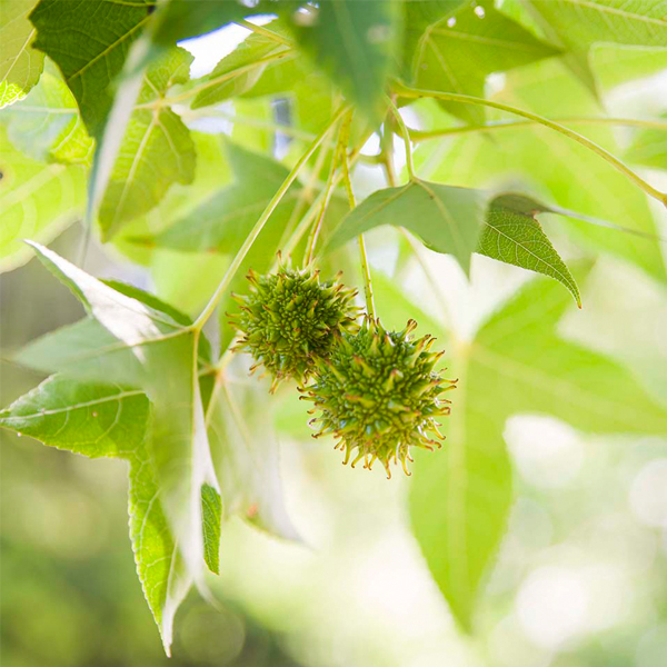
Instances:
[[[300,385],[301,399],[313,402],[311,419],[332,435],[345,450],[344,464],[355,452],[352,467],[364,460],[370,468],[379,460],[391,477],[390,464],[406,472],[410,448],[432,450],[444,436],[439,417],[449,415],[445,391],[456,387],[435,370],[444,352],[432,352],[435,338],[414,340],[417,323],[402,331],[387,331],[379,320],[352,305],[356,291],[337,276],[320,282],[318,271],[292,270],[259,276],[251,271],[250,293],[235,297],[240,313],[232,325],[241,335],[237,350],[245,350],[272,376],[271,391],[287,378]]]

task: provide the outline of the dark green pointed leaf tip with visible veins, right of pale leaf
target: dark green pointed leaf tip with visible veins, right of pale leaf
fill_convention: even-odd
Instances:
[[[498,261],[558,280],[581,307],[579,288],[551,241],[535,219],[551,209],[521,196],[506,195],[491,202],[477,252]]]

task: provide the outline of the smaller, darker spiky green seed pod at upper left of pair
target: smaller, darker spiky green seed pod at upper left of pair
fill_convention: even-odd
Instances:
[[[282,265],[266,276],[251,270],[247,278],[250,293],[235,296],[240,313],[230,321],[242,334],[235,349],[252,355],[257,364],[251,370],[263,365],[273,376],[271,391],[288,378],[307,381],[336,336],[358,329],[357,292],[339,282],[340,276],[320,282],[318,270]]]

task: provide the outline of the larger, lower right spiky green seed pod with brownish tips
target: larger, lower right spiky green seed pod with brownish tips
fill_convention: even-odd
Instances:
[[[449,415],[442,394],[456,380],[434,370],[442,352],[430,351],[430,336],[412,340],[416,326],[409,320],[402,331],[386,331],[379,320],[367,320],[359,331],[344,332],[328,359],[318,360],[315,384],[301,398],[321,410],[311,420],[321,427],[313,437],[336,436],[344,464],[357,450],[352,467],[364,459],[370,468],[378,459],[391,477],[389,464],[400,460],[409,475],[410,447],[440,447],[437,418]]]

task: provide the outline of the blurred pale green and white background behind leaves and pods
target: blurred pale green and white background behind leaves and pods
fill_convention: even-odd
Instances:
[[[531,24],[519,3],[502,7]],[[235,27],[187,44],[196,56],[193,76],[210,71],[243,36]],[[667,50],[598,46],[590,62],[598,100],[555,60],[492,76],[487,94],[555,118],[596,115],[603,108],[611,117],[658,117],[667,110]],[[308,135],[319,131],[331,110],[328,87],[317,77],[289,102],[262,97],[260,90],[257,97],[202,111],[181,110],[196,130],[200,161],[195,183],[173,186],[113,245],[102,248],[93,240],[88,270],[155,290],[190,313],[201,308],[227,267],[226,257],[156,250],[131,239],[158,233],[213,188],[232,181],[218,135],[289,162],[299,143],[276,132],[273,123],[291,119],[297,132]],[[317,103],[313,91],[321,93]],[[235,122],[235,117],[245,121]],[[432,101],[417,102],[405,117],[419,129],[461,127]],[[487,122],[500,118],[489,112]],[[667,152],[659,148],[664,131],[584,130],[667,188]],[[20,127],[13,131],[21,133]],[[369,156],[378,148],[374,140],[365,151]],[[424,178],[476,188],[516,181],[547,201],[640,229],[655,221],[667,235],[665,211],[647,203],[608,165],[544,128],[460,131],[416,146]],[[2,147],[22,150],[6,139]],[[77,160],[84,161],[89,146],[82,141],[79,149]],[[396,158],[402,167],[400,151]],[[379,168],[370,162],[355,173],[359,199],[384,187]],[[74,195],[81,187],[78,168],[67,168]],[[580,285],[584,310],[573,305],[559,334],[614,358],[667,407],[665,243],[569,219],[546,216],[542,221],[568,262],[595,263]],[[52,247],[78,261],[83,233],[76,225]],[[370,232],[368,245],[384,320],[400,327],[416,317],[420,331],[439,332],[447,358],[456,358],[527,280],[520,269],[476,256],[467,281],[451,258],[425,248],[415,251],[395,230]],[[352,262],[341,251],[331,266],[346,268],[348,281],[360,286]],[[3,275],[0,290],[3,350],[81,316],[76,300],[34,260]],[[3,406],[41,379],[6,357],[0,370]],[[242,362],[232,366],[230,381],[253,382]],[[623,392],[619,386],[621,404]],[[502,401],[502,394],[492,399]],[[665,437],[590,436],[545,416],[511,417],[504,437],[516,499],[484,587],[476,631],[466,636],[410,532],[410,480],[389,484],[380,470],[342,468],[330,442],[310,439],[293,397],[282,392],[275,400],[287,506],[303,544],[272,539],[239,519],[227,522],[221,576],[209,579],[219,608],[190,593],[178,613],[169,663],[129,548],[125,464],[90,461],[0,432],[3,667],[665,665]]]

